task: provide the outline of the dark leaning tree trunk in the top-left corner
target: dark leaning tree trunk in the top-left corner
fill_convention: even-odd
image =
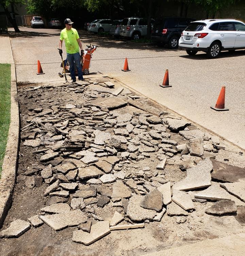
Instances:
[[[25,1],[24,0],[0,0],[0,5],[3,7],[5,15],[13,25],[15,32],[20,32],[15,20],[14,7],[16,4],[25,4]],[[11,12],[9,11],[8,7],[11,7]]]

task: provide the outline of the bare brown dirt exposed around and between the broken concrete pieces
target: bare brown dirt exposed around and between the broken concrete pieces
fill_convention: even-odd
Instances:
[[[30,124],[36,112],[33,109],[41,107],[42,109],[52,108],[53,113],[49,118],[56,118],[59,116],[59,106],[66,104],[74,104],[76,106],[84,106],[84,101],[89,102],[89,97],[84,93],[91,93],[87,86],[82,86],[82,92],[77,93],[76,87],[69,86],[48,86],[41,87],[35,90],[28,86],[19,86],[18,97],[20,105],[21,127]],[[133,93],[134,94],[134,93]],[[91,94],[89,94],[91,95]],[[103,93],[102,93],[103,95]],[[104,93],[106,97],[106,93]],[[98,95],[96,95],[98,97]],[[175,114],[167,111],[161,106],[157,106],[154,102],[148,101],[148,104],[160,109],[164,115]],[[55,112],[56,111],[56,112]],[[61,110],[60,110],[61,111]],[[64,109],[62,110],[65,111]],[[117,109],[121,113],[146,113],[132,106],[126,106]],[[68,110],[67,110],[68,112]],[[79,124],[73,125],[73,129],[79,129]],[[96,127],[96,125],[94,126]],[[93,128],[93,127],[91,127]],[[82,129],[80,127],[80,129]],[[190,126],[190,129],[196,129],[195,126]],[[24,129],[25,130],[25,129]],[[113,127],[109,127],[107,132],[111,132]],[[19,166],[17,182],[14,191],[12,207],[7,215],[2,230],[9,227],[10,223],[16,219],[27,221],[28,218],[35,214],[40,213],[40,209],[49,204],[50,197],[44,196],[44,191],[47,184],[43,182],[41,186],[32,186],[30,178],[40,174],[40,171],[45,167],[46,163],[39,161],[43,152],[33,153],[36,150],[43,149],[45,145],[45,135],[49,131],[39,131],[35,136],[39,136],[44,142],[42,146],[37,148],[24,146],[26,141],[26,132],[21,132],[20,151],[19,151]],[[186,143],[187,141],[178,133],[167,132],[171,134],[171,139],[176,140],[179,144]],[[239,148],[220,140],[220,145],[225,146],[225,150],[218,150],[217,153],[204,151],[205,157],[215,156],[216,160],[226,162],[239,167],[245,167],[244,154],[241,153]],[[65,159],[69,155],[60,152],[60,156]],[[132,161],[133,165],[138,165],[140,169],[145,166],[150,167],[151,175],[156,172],[156,166],[160,163],[157,157],[157,152],[149,153],[150,157],[145,157],[140,161]],[[180,153],[178,157],[181,158]],[[168,157],[172,158],[172,157]],[[176,158],[177,159],[177,158]],[[192,157],[192,163],[197,163],[201,157]],[[123,163],[123,160],[122,160]],[[165,179],[175,183],[183,179],[186,174],[179,167],[180,164],[167,164],[164,170]],[[184,163],[184,162],[183,162]],[[188,166],[187,166],[188,167]],[[138,169],[138,168],[137,168]],[[128,168],[127,171],[130,169]],[[136,169],[132,169],[136,170]],[[28,174],[28,175],[27,175]],[[135,180],[141,181],[142,178]],[[79,182],[79,181],[77,181]],[[68,199],[69,201],[70,199]],[[205,210],[213,204],[212,201],[204,203],[194,202],[195,211],[189,212],[186,216],[184,223],[177,223],[177,216],[169,216],[164,214],[160,222],[145,222],[145,228],[129,229],[129,230],[116,230],[112,231],[109,235],[96,241],[95,243],[85,246],[83,244],[72,242],[72,233],[77,227],[69,227],[60,231],[54,231],[48,225],[43,224],[40,227],[31,227],[30,230],[25,232],[19,238],[0,239],[0,255],[1,256],[17,256],[17,255],[98,255],[98,256],[112,256],[112,255],[126,255],[136,256],[143,255],[149,252],[159,251],[170,248],[172,246],[180,246],[196,241],[224,237],[229,234],[237,234],[244,232],[244,220],[239,219],[235,215],[213,216],[205,213]],[[120,208],[120,207],[119,207]],[[95,213],[104,220],[110,220],[115,212],[115,207],[111,202],[103,208],[94,205]],[[123,213],[122,209],[117,209]],[[124,213],[125,214],[125,213]],[[127,219],[126,219],[127,220]],[[128,220],[130,221],[130,220]],[[125,221],[126,223],[126,221]]]

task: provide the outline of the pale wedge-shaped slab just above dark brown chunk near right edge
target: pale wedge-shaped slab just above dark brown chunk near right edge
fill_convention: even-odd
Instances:
[[[207,189],[194,193],[195,198],[209,199],[213,201],[229,199],[235,201],[236,206],[245,206],[243,201],[229,194],[225,189],[220,187],[219,184],[220,183],[212,182],[212,185]]]

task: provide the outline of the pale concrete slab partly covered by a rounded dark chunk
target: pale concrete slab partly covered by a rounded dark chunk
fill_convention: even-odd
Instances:
[[[134,195],[129,199],[127,215],[132,221],[153,220],[157,215],[156,211],[144,209],[140,206],[143,198],[144,196]]]

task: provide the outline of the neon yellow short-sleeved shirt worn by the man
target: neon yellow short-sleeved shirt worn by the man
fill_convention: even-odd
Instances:
[[[71,28],[70,30],[64,28],[63,30],[61,30],[60,40],[65,40],[67,53],[73,54],[79,52],[79,45],[77,39],[79,39],[79,35],[75,28]]]

